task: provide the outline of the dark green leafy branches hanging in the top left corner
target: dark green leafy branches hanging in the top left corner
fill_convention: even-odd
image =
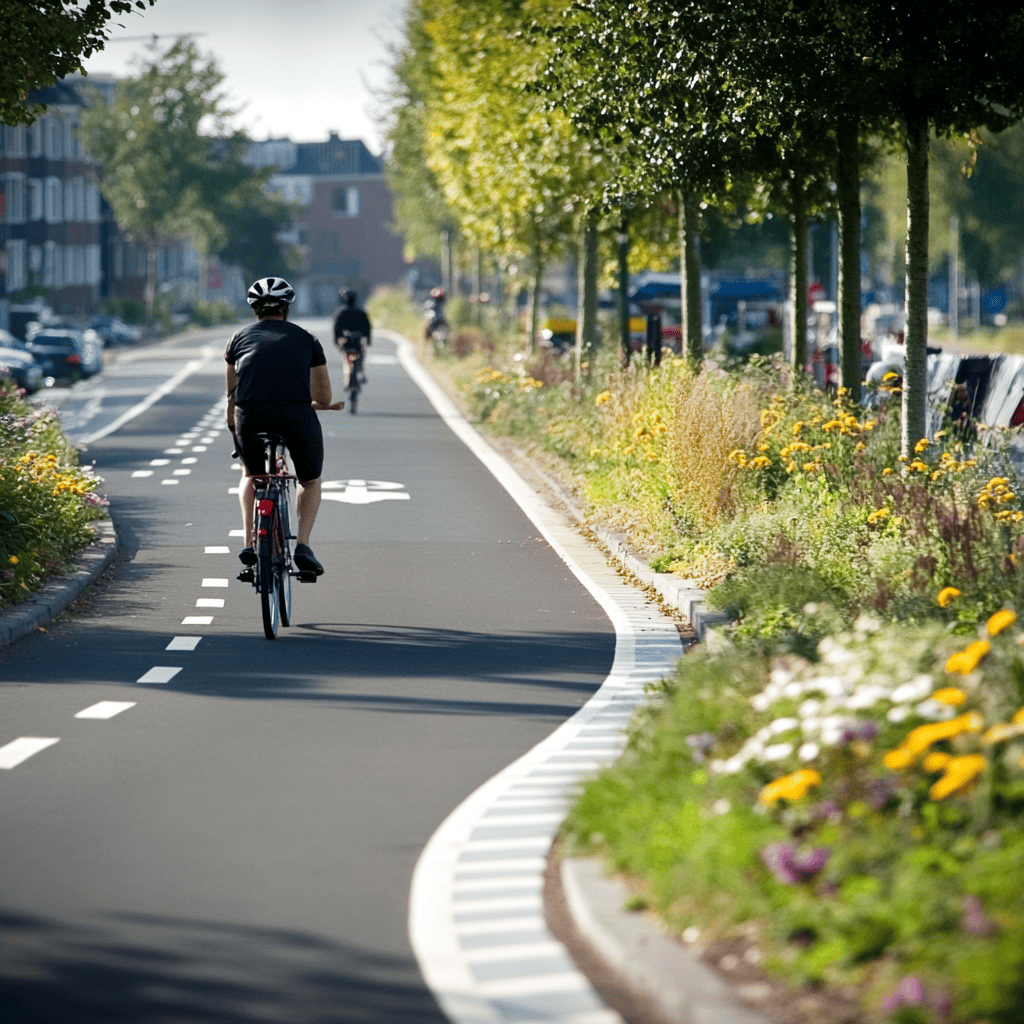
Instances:
[[[32,103],[33,89],[82,71],[82,59],[101,50],[110,20],[157,0],[6,0],[0,16],[0,124],[32,124],[46,108]]]

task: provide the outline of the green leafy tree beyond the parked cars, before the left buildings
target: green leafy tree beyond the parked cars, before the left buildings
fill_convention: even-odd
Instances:
[[[187,240],[201,257],[229,254],[243,244],[227,225],[237,231],[248,220],[266,241],[265,228],[280,229],[288,220],[287,206],[263,195],[270,171],[242,161],[249,141],[228,124],[233,112],[219,91],[223,78],[191,41],[178,40],[120,83],[110,106],[94,94],[82,116],[83,142],[100,165],[100,188],[121,227],[146,247],[151,319],[161,245]]]

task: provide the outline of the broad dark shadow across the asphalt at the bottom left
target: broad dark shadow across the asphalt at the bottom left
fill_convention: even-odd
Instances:
[[[410,958],[225,922],[0,910],[11,1024],[444,1024]]]

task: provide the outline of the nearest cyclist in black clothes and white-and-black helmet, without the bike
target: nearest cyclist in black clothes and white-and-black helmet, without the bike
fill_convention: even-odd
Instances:
[[[253,550],[253,475],[266,472],[258,433],[285,438],[299,479],[295,564],[319,575],[324,566],[309,548],[309,535],[321,503],[324,433],[314,410],[338,410],[331,401],[331,378],[321,343],[308,331],[288,322],[295,301],[292,286],[283,278],[257,281],[246,296],[258,321],[239,331],[227,343],[227,425],[242,456],[242,524],[244,565],[256,563]]]

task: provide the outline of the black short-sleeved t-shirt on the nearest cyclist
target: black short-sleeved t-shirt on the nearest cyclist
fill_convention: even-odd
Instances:
[[[310,402],[309,370],[327,364],[324,347],[308,331],[279,319],[244,327],[227,343],[224,359],[234,366],[239,402]]]

